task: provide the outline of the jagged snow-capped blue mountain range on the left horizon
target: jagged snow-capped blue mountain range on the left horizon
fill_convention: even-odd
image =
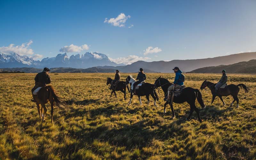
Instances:
[[[117,64],[108,59],[108,56],[102,53],[86,52],[82,54],[71,55],[69,58],[67,53],[58,54],[56,57],[44,58],[41,61],[33,60],[28,56],[20,56],[16,53],[0,52],[0,68],[17,68],[17,67],[33,67],[33,68],[54,68],[54,67],[71,67],[71,68],[90,68],[96,66],[117,66]]]

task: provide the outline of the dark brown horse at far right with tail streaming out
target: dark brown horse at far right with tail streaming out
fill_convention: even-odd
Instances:
[[[222,99],[222,96],[228,96],[228,95],[232,95],[232,97],[234,98],[233,102],[230,104],[230,107],[233,105],[233,103],[236,101],[236,108],[239,107],[239,99],[237,97],[238,93],[239,93],[239,87],[241,87],[241,89],[244,89],[244,92],[245,93],[248,93],[250,91],[250,87],[244,85],[244,84],[238,84],[238,85],[235,85],[235,84],[229,84],[227,85],[224,89],[220,89],[220,93],[218,93],[217,95],[215,94],[215,85],[214,83],[212,82],[209,82],[209,81],[204,81],[200,87],[201,90],[203,90],[205,87],[208,87],[211,92],[212,92],[212,103],[213,101],[215,100],[215,97],[218,96],[220,98],[220,100],[222,101],[223,103],[223,106],[225,106],[225,102],[224,100]],[[211,103],[211,104],[212,104]]]

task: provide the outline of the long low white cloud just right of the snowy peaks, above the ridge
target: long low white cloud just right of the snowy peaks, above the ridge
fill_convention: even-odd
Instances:
[[[138,60],[150,60],[151,58],[149,57],[139,57],[136,55],[130,55],[127,57],[119,57],[116,59],[109,58],[109,60],[116,62],[116,63],[124,63],[124,64],[132,64],[133,62],[136,62]]]

